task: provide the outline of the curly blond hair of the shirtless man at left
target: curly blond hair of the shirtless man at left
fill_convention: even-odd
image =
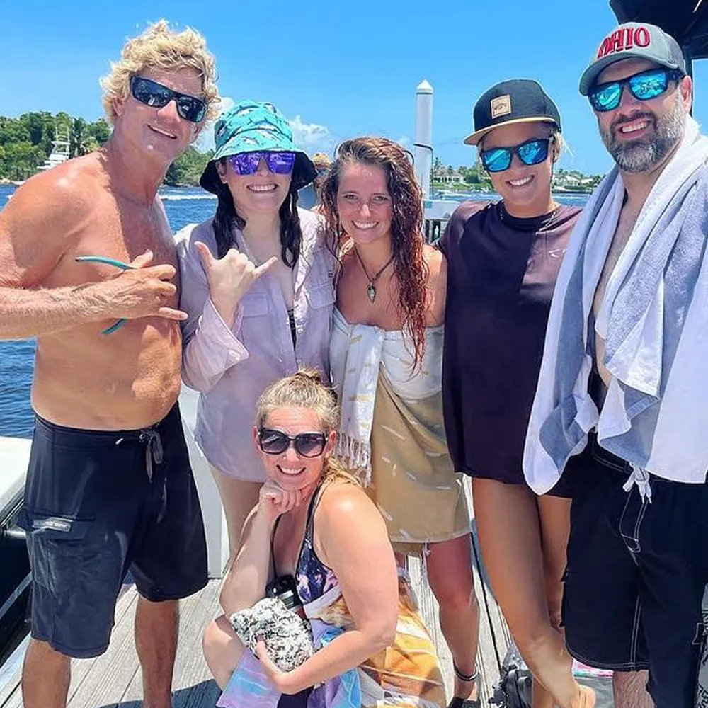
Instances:
[[[207,102],[205,120],[218,115],[216,67],[206,40],[192,28],[176,32],[166,20],[159,20],[125,43],[120,61],[111,62],[110,74],[101,79],[103,110],[111,125],[116,118],[114,102],[125,101],[130,95],[130,79],[144,69],[194,69],[202,79],[201,98]]]

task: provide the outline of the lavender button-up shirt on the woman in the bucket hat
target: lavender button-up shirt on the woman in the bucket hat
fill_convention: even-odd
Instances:
[[[195,241],[216,256],[212,219],[177,234],[183,323],[182,378],[200,392],[195,440],[209,462],[236,479],[265,481],[253,445],[256,401],[263,389],[301,366],[329,380],[329,335],[336,261],[324,244],[321,217],[298,210],[302,250],[292,269],[297,343],[278,282],[264,273],[241,298],[230,328],[209,297],[207,275]],[[246,252],[236,231],[235,248]]]

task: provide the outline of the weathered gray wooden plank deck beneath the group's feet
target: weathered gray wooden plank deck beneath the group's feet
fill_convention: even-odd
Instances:
[[[474,525],[474,521],[473,521]],[[474,530],[474,526],[473,526]],[[481,610],[479,632],[480,692],[482,705],[488,705],[493,684],[498,680],[501,659],[506,652],[509,633],[506,622],[494,600],[481,568],[479,546],[473,553],[474,583]],[[411,578],[418,594],[423,619],[433,634],[445,673],[448,695],[452,689],[452,660],[442,639],[438,624],[438,605],[421,575],[421,564],[411,563]],[[212,580],[204,590],[181,603],[180,639],[174,678],[174,708],[207,708],[214,706],[219,690],[211,680],[201,649],[201,636],[207,622],[219,614],[219,585]],[[126,586],[115,612],[115,627],[108,651],[95,659],[74,660],[69,708],[138,708],[142,683],[133,641],[133,617],[137,593]],[[7,668],[6,668],[7,670]],[[9,688],[0,692],[0,708],[21,708],[19,662],[11,668]]]

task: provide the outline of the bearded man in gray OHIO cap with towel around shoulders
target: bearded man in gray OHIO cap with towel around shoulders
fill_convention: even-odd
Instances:
[[[572,485],[570,653],[614,670],[617,708],[692,708],[708,583],[708,139],[678,42],[654,25],[608,33],[580,89],[617,169],[566,251],[524,471],[538,492],[564,467]]]

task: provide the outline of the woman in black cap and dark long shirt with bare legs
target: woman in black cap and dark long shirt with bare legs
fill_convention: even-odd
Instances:
[[[590,707],[559,629],[569,490],[537,497],[523,447],[551,297],[580,209],[557,204],[561,118],[536,81],[496,84],[474,107],[482,166],[498,202],[464,202],[440,240],[448,261],[442,396],[455,469],[472,476],[489,578],[532,670],[534,708]],[[564,478],[565,479],[565,478]]]

